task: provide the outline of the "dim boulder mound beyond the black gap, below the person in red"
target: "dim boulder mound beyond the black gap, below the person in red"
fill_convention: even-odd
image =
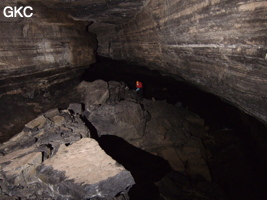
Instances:
[[[203,119],[179,103],[124,99],[123,96],[129,97],[128,93],[132,92],[125,89],[125,84],[110,81],[108,85],[111,99],[86,115],[99,137],[116,135],[168,160],[173,170],[211,181],[206,161],[209,152],[201,140],[206,136]]]

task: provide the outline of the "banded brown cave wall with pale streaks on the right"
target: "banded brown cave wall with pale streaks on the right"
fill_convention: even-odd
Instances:
[[[267,2],[150,0],[122,25],[93,24],[98,54],[182,78],[267,123]]]

